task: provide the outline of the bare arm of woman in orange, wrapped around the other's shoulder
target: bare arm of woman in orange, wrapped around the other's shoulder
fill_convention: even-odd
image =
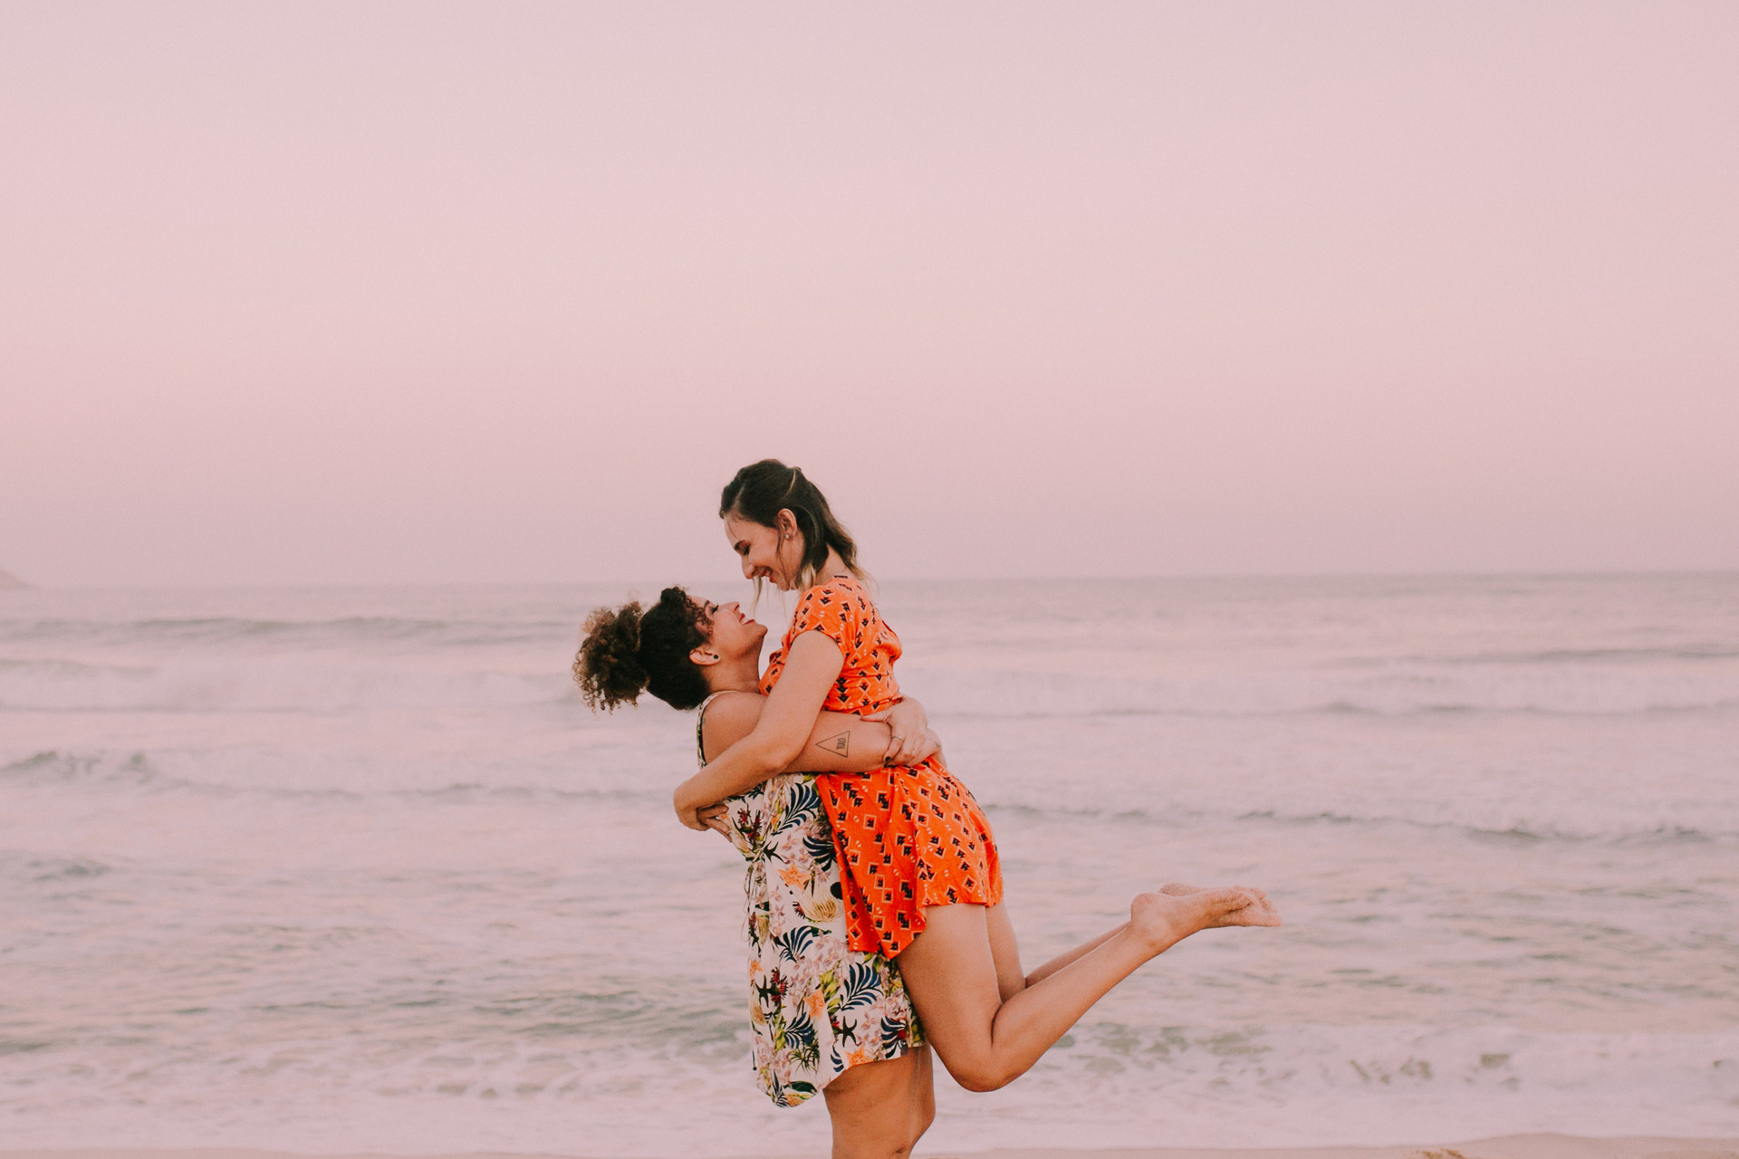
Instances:
[[[696,810],[753,789],[795,761],[842,667],[845,655],[836,643],[821,632],[798,634],[750,735],[676,785],[676,818],[689,829],[706,829]]]

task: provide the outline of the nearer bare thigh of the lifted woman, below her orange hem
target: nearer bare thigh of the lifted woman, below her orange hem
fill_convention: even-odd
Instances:
[[[989,1048],[989,1025],[1002,1006],[984,907],[925,907],[923,933],[897,963],[923,1037],[958,1077],[960,1065]]]

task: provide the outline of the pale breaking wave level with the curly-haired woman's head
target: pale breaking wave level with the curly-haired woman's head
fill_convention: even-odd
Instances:
[[[386,660],[390,657],[383,657]],[[903,686],[932,714],[963,718],[1534,712],[1628,716],[1739,707],[1739,664],[1704,671],[1424,666],[1116,678],[911,666]],[[205,657],[167,664],[0,659],[0,709],[346,711],[489,709],[574,702],[569,674],[322,660]]]

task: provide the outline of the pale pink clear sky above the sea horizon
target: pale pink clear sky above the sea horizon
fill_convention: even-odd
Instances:
[[[1739,566],[1734,3],[0,5],[0,568]]]

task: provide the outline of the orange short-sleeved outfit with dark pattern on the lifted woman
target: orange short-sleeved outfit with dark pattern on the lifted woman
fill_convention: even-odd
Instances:
[[[809,631],[845,655],[826,711],[868,716],[899,702],[899,636],[854,579],[830,579],[803,593],[791,629],[767,660],[762,695],[779,683],[791,641]],[[923,930],[925,905],[1002,900],[989,820],[937,758],[870,773],[821,773],[816,785],[840,851],[850,949],[894,957]]]

